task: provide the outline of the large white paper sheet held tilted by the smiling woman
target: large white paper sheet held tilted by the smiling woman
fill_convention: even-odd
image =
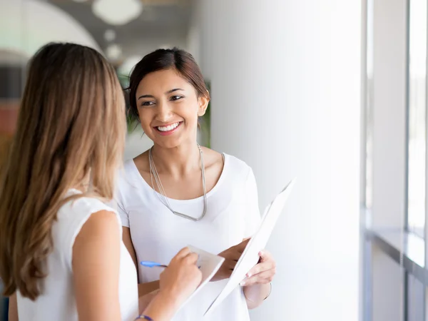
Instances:
[[[294,184],[295,179],[290,181],[290,183],[285,186],[281,193],[279,193],[275,199],[272,200],[272,203],[267,205],[258,231],[248,242],[248,245],[245,247],[243,254],[238,260],[238,263],[236,263],[232,275],[230,275],[228,283],[225,285],[223,290],[213,301],[210,307],[208,307],[205,315],[208,315],[215,309],[215,307],[218,307],[218,305],[220,305],[220,303],[225,300],[228,295],[230,295],[230,292],[232,292],[235,287],[237,287],[240,282],[244,280],[245,275],[253,268],[253,266],[258,263],[258,253],[260,253],[260,251],[265,248],[267,240],[269,240],[270,234],[272,233],[273,228],[275,228],[277,219],[280,217],[280,214],[285,207],[285,203],[287,202],[288,196],[290,195]]]

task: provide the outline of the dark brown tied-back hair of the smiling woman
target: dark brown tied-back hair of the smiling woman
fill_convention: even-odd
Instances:
[[[205,86],[202,72],[191,54],[175,47],[173,49],[158,49],[144,56],[131,72],[128,87],[131,105],[129,116],[131,119],[138,119],[136,91],[141,80],[148,73],[165,69],[174,69],[195,88],[198,97],[210,99],[210,93]]]

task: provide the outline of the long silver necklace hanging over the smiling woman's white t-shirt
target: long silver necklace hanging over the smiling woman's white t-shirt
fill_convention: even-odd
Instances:
[[[193,218],[193,216],[189,216],[173,210],[173,208],[171,207],[168,201],[165,190],[163,189],[161,178],[159,177],[158,170],[156,170],[155,162],[153,161],[153,155],[152,155],[153,147],[150,148],[150,150],[148,151],[148,163],[150,165],[150,178],[151,178],[151,183],[153,186],[154,193],[156,194],[156,196],[158,196],[159,200],[161,200],[161,203],[163,203],[163,205],[165,205],[173,214],[178,215],[182,218],[187,218],[188,220],[193,220],[194,222],[201,220],[205,216],[205,213],[207,212],[207,207],[208,207],[207,190],[205,188],[205,165],[203,163],[203,153],[202,153],[202,148],[200,148],[199,144],[197,145],[198,145],[199,155],[200,155],[200,171],[202,172],[202,186],[203,186],[203,212],[199,218]],[[153,184],[153,177],[155,178],[159,193],[156,193],[155,185]]]

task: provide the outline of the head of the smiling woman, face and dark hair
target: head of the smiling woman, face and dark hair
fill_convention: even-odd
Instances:
[[[131,74],[129,89],[131,116],[141,122],[152,140],[153,135],[169,136],[178,129],[183,130],[180,127],[184,117],[178,116],[183,112],[184,130],[196,131],[198,117],[204,115],[210,101],[198,65],[190,54],[178,49],[170,53],[160,49],[144,57]],[[189,103],[192,108],[188,108]],[[170,107],[179,108],[180,112],[170,117],[173,115]]]

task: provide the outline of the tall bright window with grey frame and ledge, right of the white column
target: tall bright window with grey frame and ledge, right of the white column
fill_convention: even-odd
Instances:
[[[428,0],[366,1],[363,320],[428,321]]]

